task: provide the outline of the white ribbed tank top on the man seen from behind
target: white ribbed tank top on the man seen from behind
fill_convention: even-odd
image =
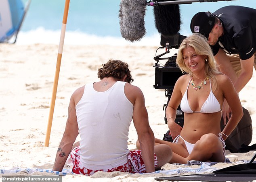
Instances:
[[[93,84],[86,84],[76,105],[80,161],[88,169],[115,168],[127,162],[133,104],[124,94],[125,84],[115,82],[105,92],[97,92]]]

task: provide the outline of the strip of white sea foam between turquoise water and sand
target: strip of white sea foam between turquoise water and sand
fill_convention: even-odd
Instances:
[[[17,37],[17,44],[54,44],[59,45],[61,30],[46,30],[39,27],[35,30],[21,31]],[[160,46],[160,35],[148,35],[141,39],[141,41],[129,42],[120,37],[97,36],[93,34],[83,33],[81,31],[66,31],[64,45],[135,45],[135,46]]]

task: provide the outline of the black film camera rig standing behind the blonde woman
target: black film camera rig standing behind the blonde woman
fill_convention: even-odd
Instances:
[[[166,110],[166,107],[169,103],[169,100],[171,98],[172,92],[174,85],[178,78],[183,75],[181,72],[180,68],[177,67],[176,65],[176,58],[177,54],[175,53],[171,57],[162,57],[163,55],[170,53],[170,49],[175,48],[178,49],[180,46],[180,43],[185,39],[186,36],[180,35],[180,33],[177,33],[172,36],[162,36],[161,35],[161,42],[160,44],[162,47],[159,47],[158,49],[166,49],[166,52],[156,55],[154,57],[156,63],[154,65],[155,67],[155,89],[164,89],[165,90],[165,96],[168,97],[167,104],[164,104],[163,110]],[[157,50],[158,50],[157,49]],[[157,52],[156,50],[156,52]],[[159,60],[167,60],[164,65],[159,65]],[[164,121],[167,124],[167,118],[166,115],[164,117]],[[175,122],[183,127],[184,123],[184,113],[180,109],[180,106],[178,106],[176,110],[176,119]]]

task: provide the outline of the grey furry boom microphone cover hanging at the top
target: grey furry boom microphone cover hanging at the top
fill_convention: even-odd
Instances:
[[[119,24],[121,35],[128,41],[139,41],[146,33],[144,16],[145,0],[121,0]]]

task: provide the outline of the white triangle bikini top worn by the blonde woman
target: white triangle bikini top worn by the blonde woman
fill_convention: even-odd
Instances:
[[[189,80],[189,84],[190,84],[190,80]],[[187,90],[189,88],[189,84],[187,86]],[[193,113],[193,112],[214,113],[214,112],[219,112],[219,111],[222,112],[222,110],[220,109],[220,103],[218,102],[218,100],[216,99],[216,97],[214,96],[214,94],[212,92],[211,79],[210,79],[210,90],[211,90],[210,94],[209,94],[208,98],[206,99],[206,101],[204,102],[203,106],[201,107],[200,111],[193,111],[190,108],[189,101],[187,99],[187,90],[186,90],[185,94],[183,95],[181,102],[180,102],[180,108],[183,112],[185,112],[185,113]]]

